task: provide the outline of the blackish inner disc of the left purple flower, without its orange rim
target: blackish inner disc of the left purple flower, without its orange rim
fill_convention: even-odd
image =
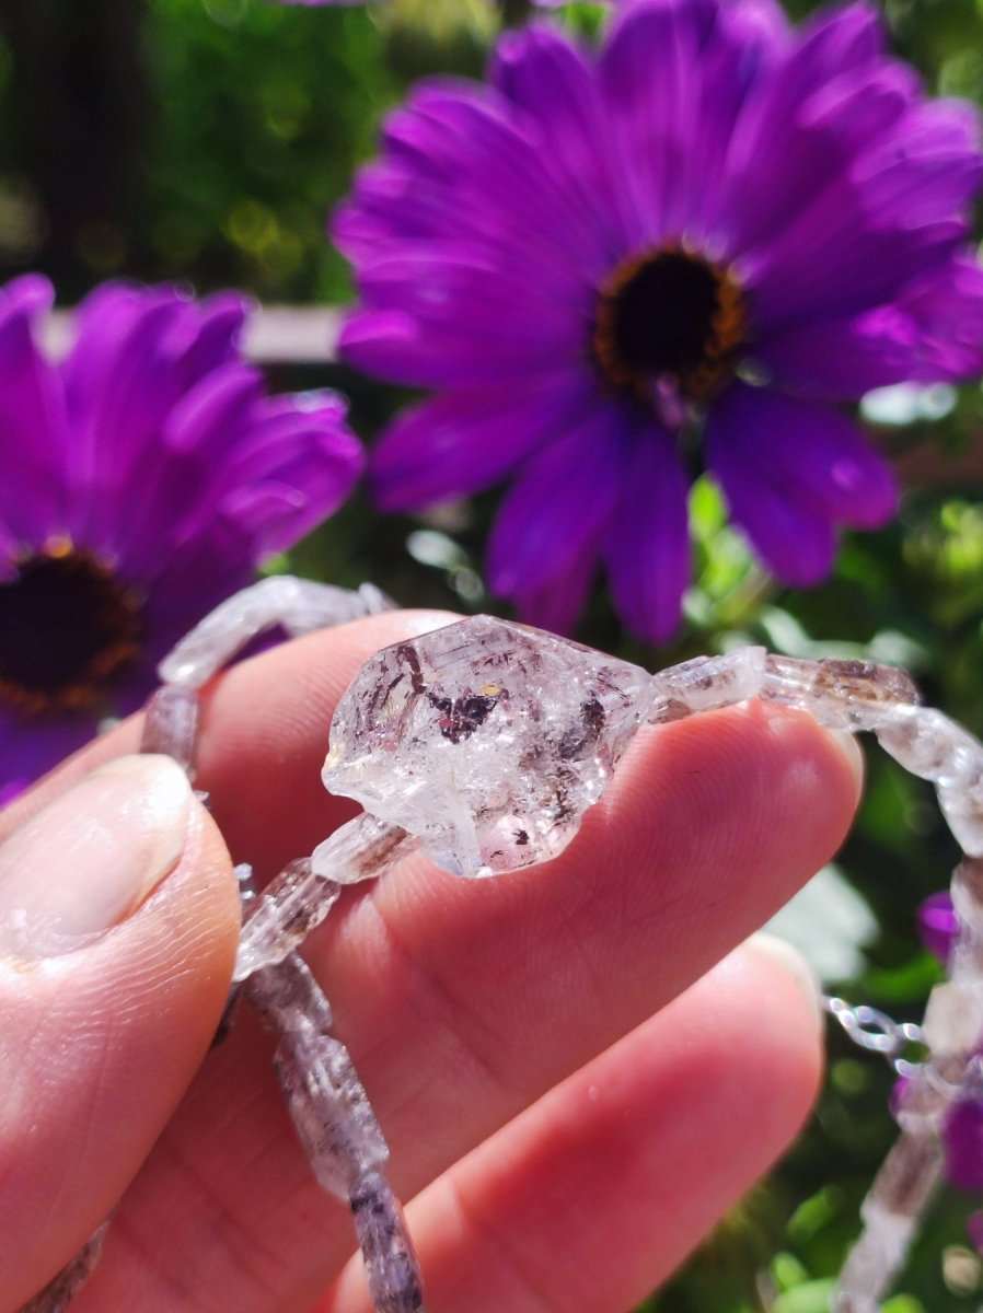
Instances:
[[[133,607],[95,562],[35,557],[0,584],[0,683],[57,701],[91,683],[134,630]]]

